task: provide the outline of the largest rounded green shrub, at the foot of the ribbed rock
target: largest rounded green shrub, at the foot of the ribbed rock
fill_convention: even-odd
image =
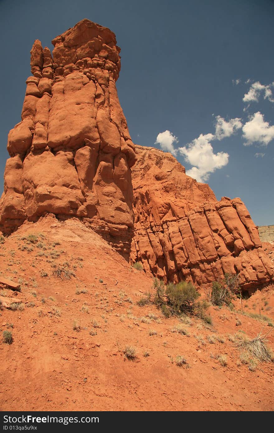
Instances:
[[[178,284],[168,283],[166,297],[168,305],[174,314],[193,312],[200,293],[192,283],[181,281]]]

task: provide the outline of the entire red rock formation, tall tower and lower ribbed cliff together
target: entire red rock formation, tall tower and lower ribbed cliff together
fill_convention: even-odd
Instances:
[[[8,136],[0,230],[45,213],[74,216],[166,281],[203,285],[239,272],[248,290],[270,282],[273,266],[242,201],[218,202],[170,154],[132,143],[114,33],[84,19],[52,43],[52,54],[39,40],[31,50],[22,121]]]

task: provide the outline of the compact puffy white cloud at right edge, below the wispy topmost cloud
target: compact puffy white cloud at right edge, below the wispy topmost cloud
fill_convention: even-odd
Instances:
[[[274,126],[269,126],[268,122],[264,122],[264,116],[260,111],[250,117],[249,122],[245,123],[242,131],[243,138],[246,140],[245,146],[256,142],[267,146],[274,139]]]

